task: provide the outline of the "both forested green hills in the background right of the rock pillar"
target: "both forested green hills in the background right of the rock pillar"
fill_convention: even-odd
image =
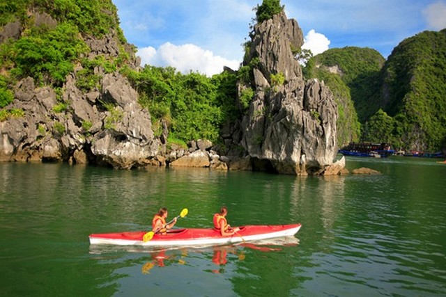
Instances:
[[[304,74],[324,80],[337,97],[340,145],[374,141],[436,152],[446,148],[445,69],[443,29],[403,40],[387,61],[373,49],[329,49],[310,58]]]

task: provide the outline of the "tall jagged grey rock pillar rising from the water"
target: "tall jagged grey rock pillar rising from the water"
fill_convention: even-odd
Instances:
[[[337,154],[337,106],[323,83],[305,83],[293,49],[302,30],[284,12],[254,27],[245,65],[254,64],[254,98],[241,122],[241,144],[252,166],[282,174],[323,174]],[[283,82],[277,77],[282,77]]]

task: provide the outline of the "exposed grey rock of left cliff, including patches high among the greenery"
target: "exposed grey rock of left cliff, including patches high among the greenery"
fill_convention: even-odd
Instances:
[[[29,18],[33,27],[58,24],[38,10],[30,10]],[[6,24],[0,30],[1,42],[18,40],[24,29],[18,21]],[[128,67],[139,67],[132,47],[122,45],[114,30],[102,38],[84,36],[83,40],[89,47],[85,58],[91,61],[98,56],[113,61],[125,54],[130,56]],[[132,168],[145,166],[157,153],[159,142],[153,136],[150,114],[139,106],[128,79],[98,65],[94,68],[98,86],[85,91],[77,87],[82,70],[77,65],[59,90],[41,83],[36,86],[32,77],[13,86],[14,100],[5,109],[23,115],[0,122],[0,161],[91,162]]]

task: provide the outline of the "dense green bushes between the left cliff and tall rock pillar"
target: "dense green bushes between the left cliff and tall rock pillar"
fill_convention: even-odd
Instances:
[[[128,77],[141,94],[140,103],[150,111],[155,130],[164,120],[169,137],[180,141],[217,141],[221,125],[237,113],[236,74],[230,72],[209,78],[196,72],[181,74],[172,67],[146,66]]]

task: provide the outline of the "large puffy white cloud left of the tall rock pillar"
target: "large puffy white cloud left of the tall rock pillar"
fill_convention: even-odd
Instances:
[[[222,72],[224,66],[233,70],[238,70],[240,66],[240,61],[215,56],[212,51],[192,44],[173,45],[166,42],[158,49],[143,47],[138,50],[137,55],[141,57],[142,65],[171,66],[182,73],[192,70],[208,76]]]

